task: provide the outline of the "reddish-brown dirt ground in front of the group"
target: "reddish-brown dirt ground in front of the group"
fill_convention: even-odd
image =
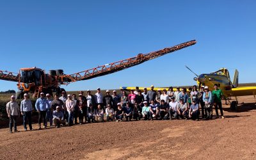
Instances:
[[[251,96],[239,101],[255,102]],[[0,159],[256,159],[255,104],[224,111],[225,119],[199,122],[106,122],[27,132],[19,126],[13,134],[0,129]]]

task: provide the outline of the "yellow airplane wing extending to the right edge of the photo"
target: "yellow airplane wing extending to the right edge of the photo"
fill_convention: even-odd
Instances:
[[[227,92],[228,97],[236,97],[236,96],[244,96],[244,95],[256,95],[256,86],[243,86],[243,87],[237,87],[232,88]]]

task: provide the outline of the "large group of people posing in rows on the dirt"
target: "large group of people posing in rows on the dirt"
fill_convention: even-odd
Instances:
[[[143,92],[136,87],[136,90],[131,90],[127,94],[124,90],[120,90],[118,94],[116,90],[111,95],[109,90],[106,90],[106,95],[103,95],[100,88],[97,88],[97,93],[94,95],[90,90],[87,90],[87,95],[83,95],[83,91],[76,94],[51,95],[40,93],[40,98],[36,100],[35,109],[38,112],[38,129],[47,127],[47,123],[55,127],[60,125],[74,125],[92,122],[106,121],[116,122],[122,121],[124,118],[129,120],[172,120],[173,118],[191,118],[199,120],[200,109],[202,118],[212,118],[212,106],[216,109],[216,118],[219,118],[218,108],[220,108],[221,118],[223,109],[221,104],[222,91],[218,88],[218,84],[214,84],[214,90],[209,91],[208,86],[201,86],[197,90],[193,88],[177,87],[174,92],[170,87],[168,90],[154,90],[154,86],[150,86],[150,90],[144,88]],[[31,113],[33,106],[27,93],[24,94],[24,100],[18,106],[15,96],[12,95],[10,102],[6,104],[6,111],[10,118],[10,132],[14,125],[14,132],[17,132],[16,120],[21,114],[23,117],[24,130],[27,131],[27,122],[29,130],[33,130],[31,125]],[[78,119],[78,121],[77,121]]]

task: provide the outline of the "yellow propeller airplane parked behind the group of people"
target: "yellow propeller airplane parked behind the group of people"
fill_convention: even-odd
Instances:
[[[186,67],[188,68],[188,67]],[[191,72],[193,72],[190,68],[188,68]],[[195,72],[193,72],[195,74]],[[218,84],[219,88],[223,92],[223,98],[225,100],[230,99],[230,97],[236,97],[236,100],[230,102],[230,108],[237,109],[237,96],[244,96],[244,95],[253,95],[255,97],[256,94],[256,86],[238,86],[238,76],[239,72],[235,70],[234,80],[233,82],[230,81],[230,76],[227,68],[220,68],[216,72],[211,72],[210,74],[200,74],[199,76],[195,74],[196,77],[194,80],[198,84],[198,88],[200,86],[208,86],[209,90],[214,90],[214,84]],[[121,87],[124,90],[136,90],[135,87]],[[143,90],[143,87],[140,87],[139,90]],[[154,90],[168,90],[168,88],[154,88]],[[150,88],[147,88],[150,90]],[[173,91],[176,89],[173,88]],[[227,102],[227,101],[226,101]]]

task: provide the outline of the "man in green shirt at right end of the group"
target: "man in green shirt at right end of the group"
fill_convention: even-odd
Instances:
[[[218,88],[218,84],[214,84],[214,90],[212,91],[212,97],[213,97],[213,105],[214,105],[215,111],[216,111],[216,117],[219,118],[218,108],[220,108],[221,118],[224,118],[222,104],[221,104],[221,98],[223,97],[223,92],[222,92],[222,90],[220,90]]]

